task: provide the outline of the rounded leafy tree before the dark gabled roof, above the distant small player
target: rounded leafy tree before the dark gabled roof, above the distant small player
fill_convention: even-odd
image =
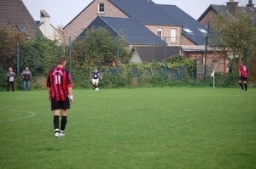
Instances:
[[[117,49],[119,47],[119,58]],[[84,37],[73,42],[73,64],[75,67],[86,69],[102,65],[119,65],[126,62],[131,55],[125,48],[128,44],[103,27],[92,27],[86,31]]]

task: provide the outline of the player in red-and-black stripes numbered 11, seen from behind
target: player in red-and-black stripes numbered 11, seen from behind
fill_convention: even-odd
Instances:
[[[70,109],[70,104],[73,104],[72,79],[70,73],[64,69],[66,62],[65,57],[60,56],[57,59],[58,65],[49,70],[47,76],[49,101],[51,103],[51,110],[54,111],[55,138],[65,136],[67,110]],[[60,115],[61,131],[59,130]]]

